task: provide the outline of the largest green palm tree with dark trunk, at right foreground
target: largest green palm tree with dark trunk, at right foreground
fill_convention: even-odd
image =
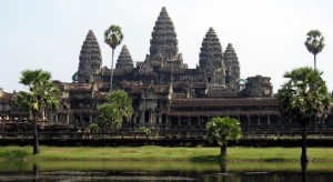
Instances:
[[[283,77],[289,79],[278,91],[281,114],[296,121],[302,130],[301,161],[307,162],[306,128],[310,122],[324,120],[330,113],[332,95],[329,93],[323,73],[310,67],[294,69]]]

